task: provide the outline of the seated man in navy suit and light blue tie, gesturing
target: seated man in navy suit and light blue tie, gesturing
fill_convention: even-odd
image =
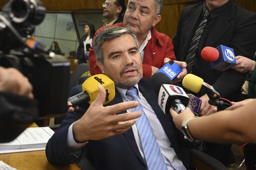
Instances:
[[[47,144],[49,162],[75,163],[86,154],[96,169],[185,170],[189,152],[179,146],[184,136],[161,110],[149,79],[142,78],[135,33],[125,27],[106,28],[95,37],[94,51],[98,66],[115,83],[115,98],[102,106],[105,94],[99,86],[100,95],[90,106],[83,104],[69,112]],[[70,95],[80,92],[81,86],[76,86]],[[129,104],[132,101],[138,103]],[[132,126],[124,120],[112,122],[125,114],[141,117]]]

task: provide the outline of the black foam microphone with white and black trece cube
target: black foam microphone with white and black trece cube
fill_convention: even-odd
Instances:
[[[189,102],[188,95],[181,87],[173,85],[173,81],[164,73],[157,72],[153,74],[150,84],[158,95],[158,105],[165,114],[170,114],[171,107],[177,113],[181,113],[186,109]]]

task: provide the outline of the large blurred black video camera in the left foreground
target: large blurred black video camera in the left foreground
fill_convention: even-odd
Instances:
[[[33,115],[37,118],[64,114],[67,108],[70,63],[66,58],[54,54],[39,40],[31,37],[35,25],[44,20],[45,7],[39,0],[10,0],[2,11],[0,66],[15,67],[27,76],[33,85],[39,115],[34,113],[28,116]],[[14,126],[17,122],[23,123],[21,120],[16,121],[11,118]],[[32,119],[24,117],[25,125],[33,122],[27,120]],[[11,120],[8,121],[12,123]]]

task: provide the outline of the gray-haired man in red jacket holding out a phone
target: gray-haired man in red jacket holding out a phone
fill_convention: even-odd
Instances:
[[[158,32],[154,28],[154,26],[161,20],[160,13],[162,7],[163,0],[129,0],[123,23],[104,26],[98,29],[95,35],[111,26],[124,26],[132,29],[136,33],[139,41],[139,51],[143,61],[143,77],[150,78],[151,75],[165,64],[165,58],[176,60],[170,37]],[[93,46],[89,51],[91,75],[102,73],[96,64]],[[174,80],[179,82],[187,74],[187,64],[185,62],[175,62],[183,68],[183,71]]]

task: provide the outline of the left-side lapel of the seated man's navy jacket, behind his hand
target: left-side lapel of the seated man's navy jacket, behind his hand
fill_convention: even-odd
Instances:
[[[119,92],[117,91],[117,89],[115,89],[115,98],[109,102],[108,105],[115,105],[115,104],[118,104],[118,103],[122,103],[123,102],[123,99],[122,97],[120,96]],[[127,113],[126,110],[124,111],[121,111],[121,112],[118,112],[116,114],[122,114],[122,113]],[[133,152],[136,154],[136,156],[138,157],[138,159],[145,164],[142,156],[141,156],[141,153],[140,153],[140,150],[137,146],[137,143],[135,141],[135,138],[134,138],[134,134],[133,134],[133,130],[132,128],[130,128],[127,132],[123,133],[124,137],[126,138],[126,140],[128,141],[130,147],[132,148]],[[147,166],[145,164],[145,166]]]

